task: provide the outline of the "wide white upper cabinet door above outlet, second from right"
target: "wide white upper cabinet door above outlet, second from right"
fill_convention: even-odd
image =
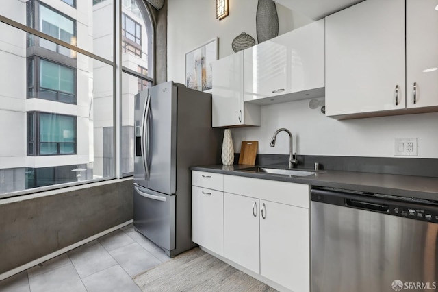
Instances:
[[[405,108],[404,1],[367,0],[326,17],[326,114]]]

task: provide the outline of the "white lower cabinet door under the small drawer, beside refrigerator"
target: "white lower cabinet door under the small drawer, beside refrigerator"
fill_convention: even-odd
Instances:
[[[192,186],[193,242],[224,256],[224,193]]]

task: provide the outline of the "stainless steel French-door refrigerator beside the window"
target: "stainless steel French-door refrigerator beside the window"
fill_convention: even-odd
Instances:
[[[193,165],[220,162],[211,94],[166,82],[135,100],[134,228],[175,256],[192,242]]]

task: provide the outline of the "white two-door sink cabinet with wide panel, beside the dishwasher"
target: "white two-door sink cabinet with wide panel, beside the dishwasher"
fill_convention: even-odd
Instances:
[[[310,291],[309,186],[224,175],[224,257]]]

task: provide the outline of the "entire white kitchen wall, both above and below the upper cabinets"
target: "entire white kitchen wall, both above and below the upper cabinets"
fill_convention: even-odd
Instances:
[[[215,16],[215,1],[168,1],[168,80],[184,83],[185,52],[218,36],[219,58],[233,53],[231,42],[241,32],[257,40],[255,0],[230,0],[230,13],[222,21]],[[309,23],[296,12],[277,4],[280,34]],[[261,127],[231,130],[235,152],[242,141],[259,141],[258,153],[288,154],[289,140],[280,133],[276,147],[269,147],[275,130],[286,127],[294,134],[298,154],[333,156],[394,156],[394,138],[418,138],[418,158],[438,158],[438,113],[411,114],[337,121],[320,108],[311,110],[309,100],[261,108]]]

